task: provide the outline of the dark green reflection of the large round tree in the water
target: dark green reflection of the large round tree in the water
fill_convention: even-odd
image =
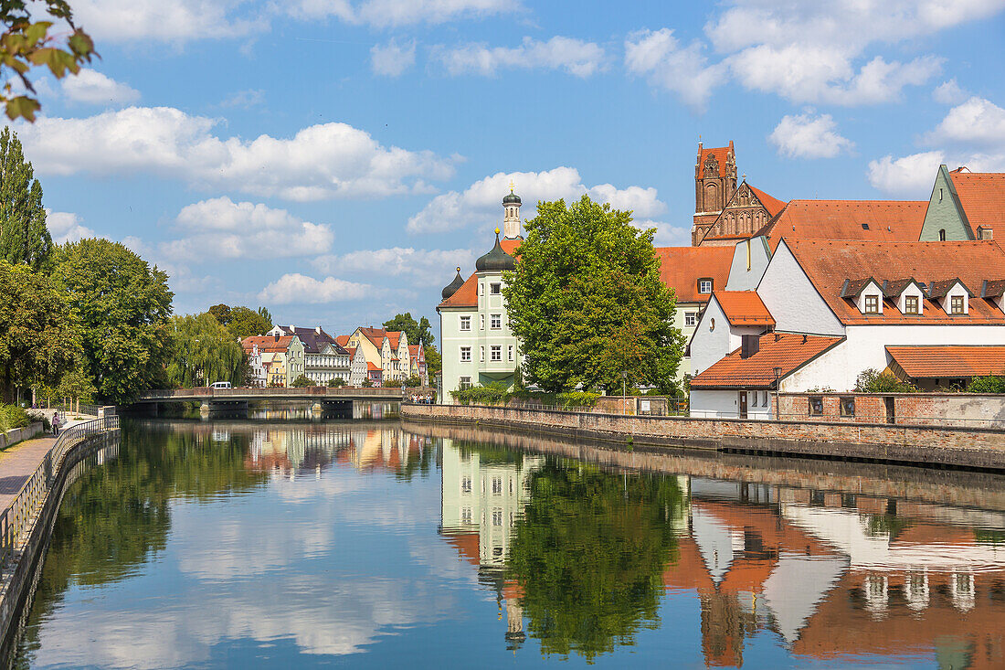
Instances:
[[[542,653],[592,660],[658,625],[662,573],[677,555],[667,519],[682,501],[672,478],[623,478],[555,458],[531,475],[507,576],[523,587]]]

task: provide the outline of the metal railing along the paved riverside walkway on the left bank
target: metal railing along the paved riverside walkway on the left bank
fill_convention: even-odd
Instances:
[[[119,416],[96,418],[72,426],[56,438],[56,442],[24,483],[14,500],[0,512],[0,573],[14,555],[31,520],[45,502],[66,453],[84,440],[119,430]]]

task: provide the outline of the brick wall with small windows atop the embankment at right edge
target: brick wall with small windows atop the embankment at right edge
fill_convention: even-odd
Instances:
[[[822,400],[823,413],[810,413],[810,398]],[[853,416],[841,414],[841,398],[854,399]],[[896,425],[1005,431],[1005,395],[976,393],[779,393],[777,415],[799,422],[887,424],[886,398],[892,400]]]

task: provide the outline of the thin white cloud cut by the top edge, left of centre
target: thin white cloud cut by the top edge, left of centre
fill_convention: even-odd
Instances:
[[[438,24],[463,18],[485,18],[523,11],[519,0],[293,0],[282,5],[298,18],[335,17],[348,23],[387,28],[417,23]]]

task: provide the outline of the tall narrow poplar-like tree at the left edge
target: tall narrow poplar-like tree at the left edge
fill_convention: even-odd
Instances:
[[[21,141],[10,128],[0,131],[0,259],[32,270],[46,267],[52,236],[45,226],[42,185],[24,160]]]

